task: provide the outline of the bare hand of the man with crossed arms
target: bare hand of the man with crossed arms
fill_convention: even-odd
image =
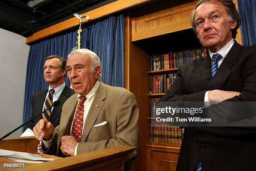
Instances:
[[[239,96],[239,94],[241,93],[215,89],[209,92],[208,99],[211,104],[217,104],[219,102],[223,102],[224,100]]]

